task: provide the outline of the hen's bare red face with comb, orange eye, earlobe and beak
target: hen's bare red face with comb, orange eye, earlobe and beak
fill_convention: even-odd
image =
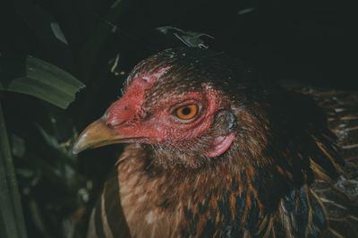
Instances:
[[[124,96],[109,106],[97,123],[92,123],[81,133],[73,152],[121,142],[190,150],[206,137],[205,145],[200,141],[200,147],[205,149],[204,155],[217,157],[223,154],[235,135],[234,132],[213,134],[214,117],[225,110],[216,89],[201,84],[199,89],[173,91],[166,93],[166,97],[148,100],[155,98],[151,96],[158,93],[156,85],[169,68],[132,78]]]

